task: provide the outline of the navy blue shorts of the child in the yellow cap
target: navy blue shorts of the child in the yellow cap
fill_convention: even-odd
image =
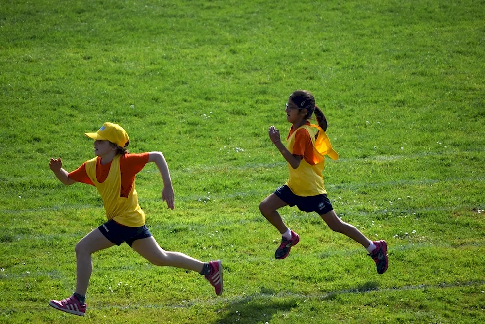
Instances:
[[[118,246],[123,242],[126,242],[131,246],[135,240],[152,236],[148,227],[146,227],[146,224],[140,227],[129,227],[116,223],[113,219],[110,219],[97,228],[99,228],[101,233],[103,233],[108,240]]]

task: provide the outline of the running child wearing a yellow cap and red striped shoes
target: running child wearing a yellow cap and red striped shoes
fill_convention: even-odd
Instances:
[[[145,224],[145,213],[138,205],[135,176],[146,163],[154,162],[162,175],[162,200],[174,209],[174,189],[167,162],[162,152],[130,154],[129,137],[119,125],[104,123],[96,133],[85,133],[94,139],[95,158],[68,173],[61,158],[50,159],[49,167],[65,185],[82,182],[97,188],[103,200],[107,222],[88,233],[76,244],[76,291],[49,305],[75,315],[86,311],[86,291],[92,272],[91,254],[126,242],[142,257],[158,266],[172,266],[197,271],[209,280],[217,295],[222,294],[223,278],[220,260],[201,262],[179,252],[164,251]]]

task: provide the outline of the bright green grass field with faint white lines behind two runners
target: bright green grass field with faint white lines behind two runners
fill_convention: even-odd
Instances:
[[[63,186],[105,121],[131,152],[166,250],[221,259],[225,291],[126,244],[93,255],[90,323],[485,322],[485,2],[3,0],[0,3],[0,322],[78,322],[49,307],[75,288],[75,244],[104,221],[94,187]],[[313,92],[340,159],[324,177],[341,218],[388,243],[377,275],[359,244],[259,202],[286,181],[292,91]]]

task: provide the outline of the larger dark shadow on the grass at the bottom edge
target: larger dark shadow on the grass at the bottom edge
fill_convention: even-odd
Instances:
[[[276,297],[271,289],[261,288],[261,292],[234,301],[219,310],[222,316],[214,323],[265,323],[273,314],[288,312],[298,306],[301,298]]]

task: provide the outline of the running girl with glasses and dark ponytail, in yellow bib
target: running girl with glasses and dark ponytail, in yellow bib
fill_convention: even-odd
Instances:
[[[327,120],[320,108],[315,105],[315,98],[306,90],[295,91],[288,98],[285,112],[287,121],[292,124],[286,146],[281,143],[279,130],[274,126],[269,128],[268,134],[287,161],[290,177],[285,185],[276,189],[259,204],[261,214],[282,235],[275,258],[286,258],[291,247],[300,241],[300,236],[286,226],[277,211],[283,206],[296,205],[301,211],[317,212],[330,229],[362,244],[375,261],[377,272],[383,274],[388,268],[386,241],[371,241],[356,227],[343,222],[327,198],[322,176],[324,155],[330,156],[333,160],[337,160],[339,155],[332,148],[325,133]],[[311,125],[308,121],[313,113],[318,126]]]

